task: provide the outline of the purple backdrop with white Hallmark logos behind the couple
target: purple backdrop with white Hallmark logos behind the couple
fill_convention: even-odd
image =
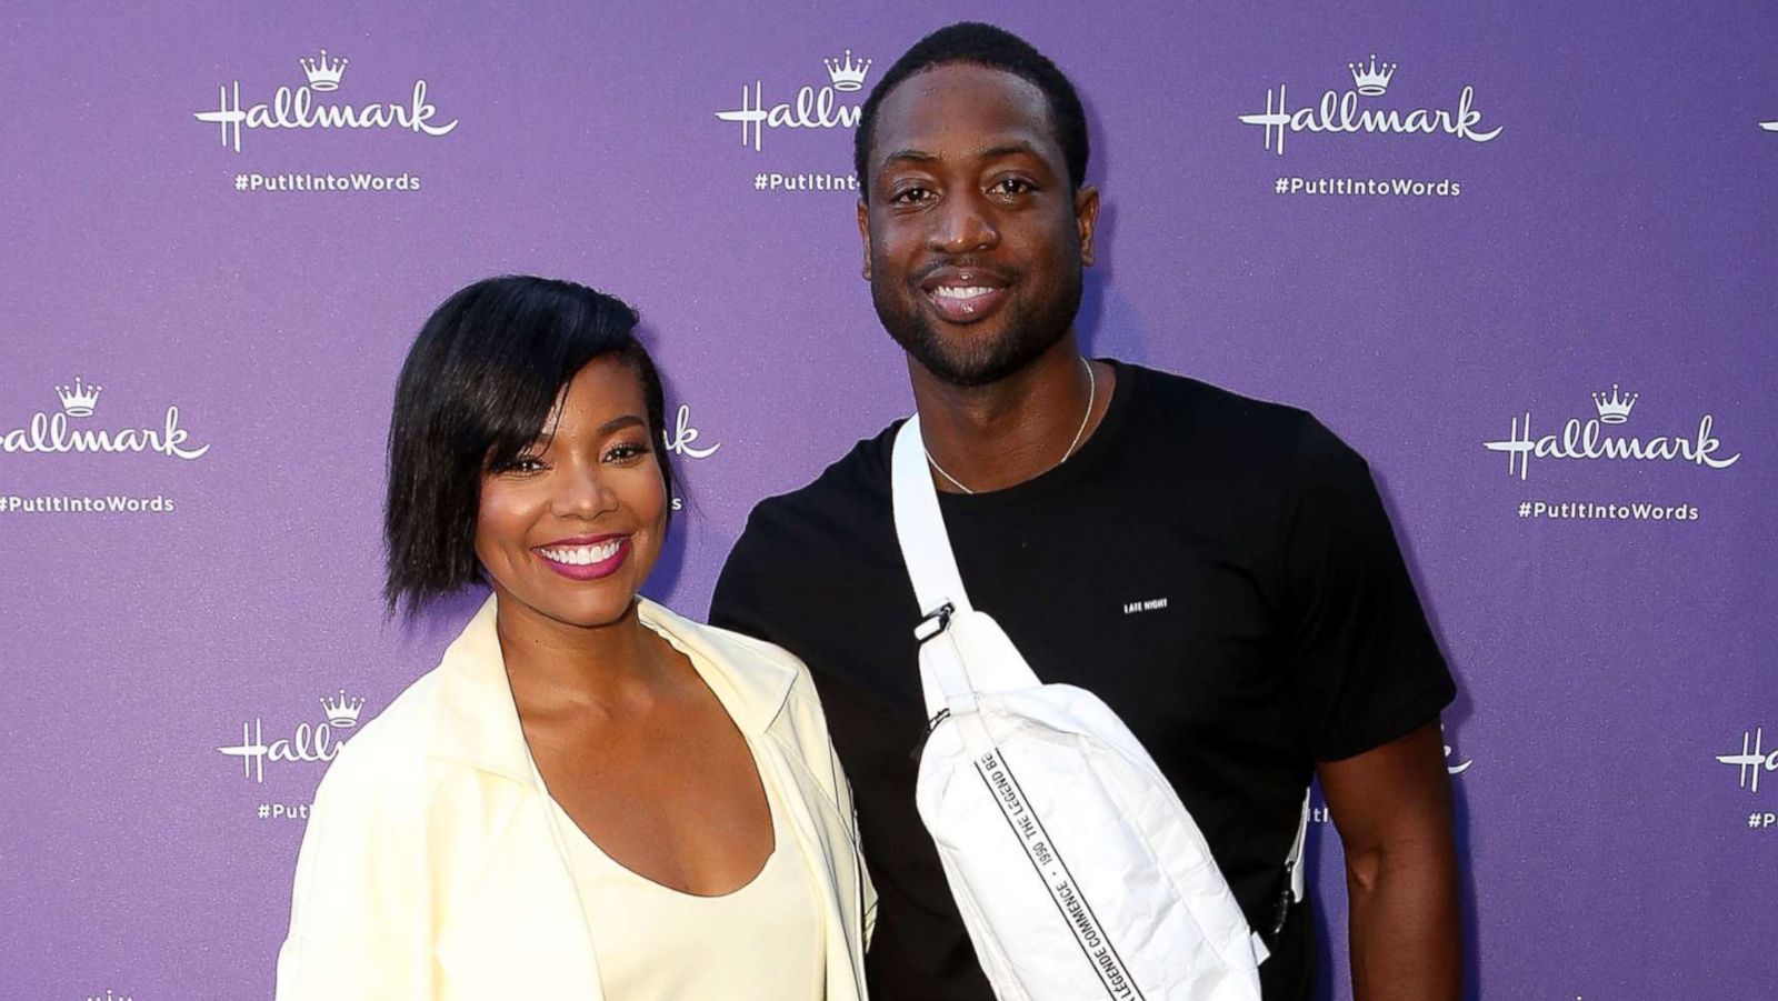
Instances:
[[[270,994],[324,759],[468,610],[377,603],[395,372],[457,286],[642,308],[692,615],[757,498],[910,409],[845,87],[965,14],[1086,98],[1093,352],[1371,457],[1463,690],[1476,989],[1773,994],[1778,12],[590,7],[7,5],[0,996]]]

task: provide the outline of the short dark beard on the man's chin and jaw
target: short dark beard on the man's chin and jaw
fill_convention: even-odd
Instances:
[[[1069,332],[1081,311],[1081,272],[1072,270],[1070,277],[1038,302],[1010,302],[999,318],[999,334],[992,338],[971,336],[967,329],[951,340],[942,338],[917,300],[923,292],[916,288],[912,300],[891,297],[887,283],[875,276],[871,304],[894,343],[921,368],[953,386],[987,386],[1031,364]]]

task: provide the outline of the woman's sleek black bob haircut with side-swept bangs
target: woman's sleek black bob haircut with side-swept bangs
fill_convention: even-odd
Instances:
[[[482,471],[517,459],[544,430],[562,388],[612,356],[642,382],[667,496],[660,373],[635,336],[637,311],[573,281],[505,276],[444,300],[414,338],[395,386],[389,496],[382,509],[395,612],[485,583],[475,558]],[[669,505],[669,512],[670,512]]]

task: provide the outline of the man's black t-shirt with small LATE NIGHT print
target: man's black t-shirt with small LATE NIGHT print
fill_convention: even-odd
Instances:
[[[880,898],[871,996],[990,1001],[914,809],[926,718],[896,427],[754,509],[711,622],[814,674]],[[1316,761],[1405,736],[1454,695],[1369,468],[1303,411],[1117,364],[1072,459],[939,501],[971,603],[1040,679],[1124,718],[1268,935]],[[1268,999],[1309,996],[1310,926],[1294,909],[1271,942]]]

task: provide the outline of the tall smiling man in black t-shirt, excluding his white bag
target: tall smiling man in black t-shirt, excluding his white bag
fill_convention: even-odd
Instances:
[[[1307,909],[1273,923],[1314,775],[1346,846],[1357,996],[1454,997],[1454,688],[1369,469],[1301,411],[1081,357],[1086,156],[1069,80],[987,25],[917,43],[862,108],[864,277],[907,352],[971,599],[1159,763],[1271,946],[1268,999],[1310,990]],[[759,503],[711,619],[814,672],[880,893],[871,996],[987,999],[914,807],[921,610],[893,439]]]

